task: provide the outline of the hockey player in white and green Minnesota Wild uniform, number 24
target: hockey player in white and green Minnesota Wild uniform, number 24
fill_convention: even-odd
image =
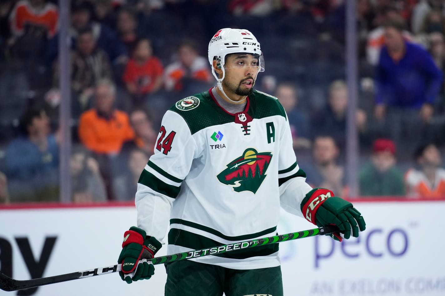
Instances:
[[[280,206],[348,239],[360,212],[328,189],[311,188],[292,148],[279,101],[253,89],[264,71],[260,44],[223,28],[209,43],[217,86],[179,100],[162,120],[155,154],[138,182],[138,227],[124,234],[118,263],[128,283],[154,274],[150,261],[167,225],[168,254],[276,234]],[[333,236],[341,240],[340,233]],[[278,244],[166,265],[166,296],[283,296]]]

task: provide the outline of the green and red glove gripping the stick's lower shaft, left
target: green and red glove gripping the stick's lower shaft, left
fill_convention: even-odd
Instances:
[[[119,272],[122,280],[131,284],[136,280],[148,280],[154,274],[154,265],[150,259],[162,247],[154,237],[146,236],[141,228],[130,227],[124,233],[122,251],[117,259],[117,263],[122,264],[122,271]],[[142,263],[138,264],[138,261]]]

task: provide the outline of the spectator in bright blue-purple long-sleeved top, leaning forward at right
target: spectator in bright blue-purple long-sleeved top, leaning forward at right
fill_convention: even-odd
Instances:
[[[442,84],[442,72],[430,54],[403,38],[402,20],[385,25],[385,46],[376,69],[377,120],[386,121],[392,139],[410,143],[425,135],[433,104]]]

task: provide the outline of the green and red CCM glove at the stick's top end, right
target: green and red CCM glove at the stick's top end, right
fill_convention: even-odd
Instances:
[[[344,238],[359,236],[364,231],[366,224],[363,216],[350,202],[334,196],[331,190],[314,188],[309,191],[301,202],[301,212],[304,218],[318,227],[336,225]],[[333,233],[334,240],[342,240],[339,232]]]

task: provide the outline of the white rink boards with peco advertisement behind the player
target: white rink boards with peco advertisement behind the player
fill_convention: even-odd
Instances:
[[[326,236],[280,243],[285,296],[445,295],[445,201],[356,202],[367,229],[337,242]],[[129,206],[0,208],[0,271],[17,280],[117,263]],[[279,234],[315,228],[282,212]],[[162,248],[157,255],[166,254]],[[117,273],[0,295],[162,296],[166,272],[126,284]]]

